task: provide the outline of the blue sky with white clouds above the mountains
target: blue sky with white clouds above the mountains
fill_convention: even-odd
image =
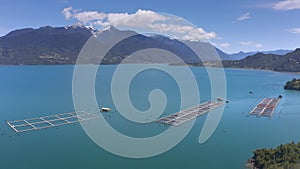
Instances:
[[[161,13],[184,18],[194,27],[154,24]],[[81,22],[150,25],[153,29],[205,36],[227,53],[300,47],[300,0],[1,0],[0,36],[22,28],[60,27]]]

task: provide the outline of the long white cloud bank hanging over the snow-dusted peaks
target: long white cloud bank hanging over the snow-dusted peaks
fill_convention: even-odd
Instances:
[[[99,13],[97,11],[78,11],[68,7],[61,12],[67,20],[75,19],[83,24],[138,28],[158,33],[170,33],[182,40],[198,41],[216,38],[215,32],[206,32],[202,28],[179,24],[174,18],[150,10],[139,9],[135,13]]]

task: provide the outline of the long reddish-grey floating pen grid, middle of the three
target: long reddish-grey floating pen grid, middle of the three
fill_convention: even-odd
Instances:
[[[196,105],[194,107],[182,110],[180,112],[177,112],[175,114],[160,118],[156,120],[158,123],[164,123],[169,124],[173,126],[178,126],[180,124],[183,124],[189,120],[192,120],[194,118],[197,118],[201,115],[204,115],[208,113],[209,111],[216,109],[224,104],[223,101],[217,101],[217,102],[204,102],[199,105]]]

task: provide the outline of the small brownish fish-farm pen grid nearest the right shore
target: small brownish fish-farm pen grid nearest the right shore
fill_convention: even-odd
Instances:
[[[280,98],[264,98],[249,114],[272,117]]]

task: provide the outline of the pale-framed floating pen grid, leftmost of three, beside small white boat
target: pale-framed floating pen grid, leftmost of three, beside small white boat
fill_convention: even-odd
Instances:
[[[70,112],[63,114],[54,114],[50,116],[43,116],[37,118],[30,118],[25,120],[15,120],[7,121],[9,127],[11,127],[15,132],[25,132],[31,130],[40,130],[44,128],[56,127],[66,124],[73,124],[80,121],[92,120],[98,118],[96,114],[91,114],[87,112]]]

